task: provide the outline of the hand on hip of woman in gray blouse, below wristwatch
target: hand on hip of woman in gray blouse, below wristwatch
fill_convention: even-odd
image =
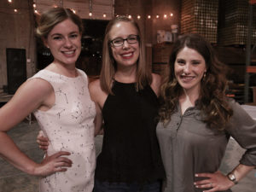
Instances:
[[[197,173],[195,177],[208,177],[194,183],[195,188],[207,188],[204,192],[224,191],[235,185],[235,183],[231,182],[228,177],[219,171],[214,173]]]

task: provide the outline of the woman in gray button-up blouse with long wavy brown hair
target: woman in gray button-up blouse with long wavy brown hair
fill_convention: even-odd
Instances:
[[[164,191],[231,191],[256,166],[256,122],[225,96],[225,85],[224,65],[211,44],[196,34],[177,39],[157,126]],[[247,151],[224,175],[218,168],[230,137]]]

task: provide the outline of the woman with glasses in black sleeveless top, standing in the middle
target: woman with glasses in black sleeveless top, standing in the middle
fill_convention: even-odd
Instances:
[[[111,20],[103,42],[101,77],[90,84],[104,121],[95,192],[160,192],[165,177],[155,133],[160,76],[149,69],[137,23],[125,16]]]

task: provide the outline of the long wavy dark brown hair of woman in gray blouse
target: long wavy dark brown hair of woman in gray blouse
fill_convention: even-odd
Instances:
[[[177,39],[173,44],[172,55],[169,60],[169,75],[163,80],[160,89],[162,105],[160,107],[160,121],[165,124],[171,120],[178,98],[183,90],[177,83],[174,75],[174,63],[178,52],[184,47],[195,49],[201,54],[207,65],[206,76],[201,80],[200,98],[198,107],[204,117],[204,122],[211,128],[224,130],[233,114],[229,106],[228,98],[225,96],[226,67],[218,61],[212,45],[197,34],[186,34]]]

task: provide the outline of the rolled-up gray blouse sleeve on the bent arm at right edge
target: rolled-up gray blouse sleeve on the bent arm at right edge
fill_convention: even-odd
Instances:
[[[246,149],[240,163],[245,166],[256,166],[256,121],[237,102],[230,102],[230,106],[234,113],[227,131],[241,148]]]

